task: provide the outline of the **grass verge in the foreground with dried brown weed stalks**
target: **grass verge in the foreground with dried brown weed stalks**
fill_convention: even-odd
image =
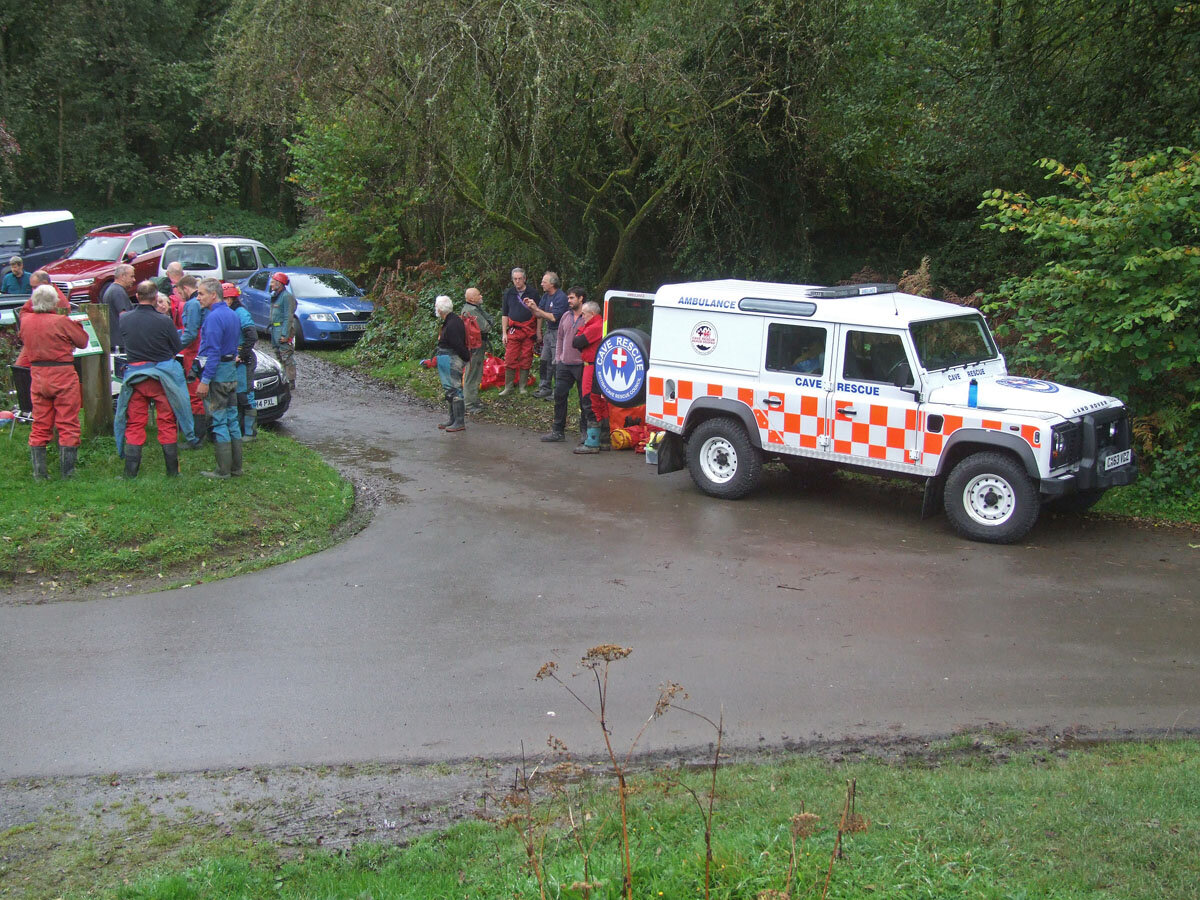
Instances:
[[[635,896],[704,895],[703,823],[689,791],[703,797],[708,778],[672,768],[630,781]],[[710,896],[821,896],[850,780],[864,821],[842,839],[830,898],[1200,898],[1194,740],[725,767]],[[220,816],[167,821],[131,804],[101,830],[55,814],[0,833],[0,895],[535,898],[533,846],[545,895],[613,898],[616,799],[605,776],[576,776],[535,804],[532,844],[481,800],[492,821],[342,853],[263,841],[253,820],[230,829]]]

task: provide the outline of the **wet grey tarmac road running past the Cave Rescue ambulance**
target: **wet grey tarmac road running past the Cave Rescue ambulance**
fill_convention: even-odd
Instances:
[[[632,454],[446,436],[331,382],[302,384],[286,428],[355,478],[371,524],[230,581],[0,606],[0,776],[512,757],[548,734],[594,752],[587,712],[534,673],[601,643],[634,648],[611,676],[618,746],[666,680],[743,748],[1200,730],[1195,533],[1046,520],[992,547],[908,493],[782,470],[719,502]],[[638,749],[712,738],[671,712]]]

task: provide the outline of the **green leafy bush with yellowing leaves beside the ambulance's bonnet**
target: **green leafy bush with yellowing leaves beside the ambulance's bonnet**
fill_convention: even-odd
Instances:
[[[1200,151],[1122,150],[1098,175],[1039,160],[1057,194],[984,196],[984,228],[1043,260],[985,311],[1014,367],[1126,398],[1153,456],[1200,434]]]

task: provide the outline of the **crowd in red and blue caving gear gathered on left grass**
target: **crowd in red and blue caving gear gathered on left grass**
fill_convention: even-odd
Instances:
[[[47,446],[58,431],[60,474],[70,478],[78,457],[82,403],[73,354],[88,346],[88,335],[66,316],[70,304],[49,276],[38,280],[42,275],[34,274],[19,319],[23,348],[17,364],[30,367],[31,380],[30,461],[35,479],[48,478]],[[258,331],[250,311],[241,305],[236,284],[197,280],[181,266],[168,268],[160,282],[136,284],[136,302],[131,302],[127,289],[134,287],[133,269],[121,265],[101,298],[109,310],[110,346],[124,352],[125,360],[113,428],[118,455],[125,461],[124,475],[138,475],[151,408],[168,476],[179,475],[179,443],[198,449],[206,436],[214,442],[216,468],[202,474],[241,475],[242,442],[253,438],[257,416],[253,348]],[[290,349],[295,311],[288,283],[286,272],[272,274],[271,320],[287,323],[286,330],[282,325],[271,330],[281,361],[284,354],[278,348]],[[284,365],[294,385],[290,354]]]

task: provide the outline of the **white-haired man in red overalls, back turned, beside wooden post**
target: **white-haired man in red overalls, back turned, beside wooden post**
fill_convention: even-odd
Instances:
[[[74,474],[79,454],[79,376],[74,371],[74,349],[88,346],[83,325],[56,316],[59,296],[54,288],[40,284],[30,298],[32,308],[20,319],[20,336],[29,359],[34,402],[34,424],[29,430],[29,458],[34,479],[43,480],[46,446],[59,431],[59,472]]]

